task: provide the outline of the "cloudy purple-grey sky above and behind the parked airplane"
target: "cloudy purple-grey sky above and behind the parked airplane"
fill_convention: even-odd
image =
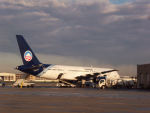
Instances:
[[[22,64],[16,34],[42,63],[118,69],[150,63],[149,0],[0,0],[0,72]]]

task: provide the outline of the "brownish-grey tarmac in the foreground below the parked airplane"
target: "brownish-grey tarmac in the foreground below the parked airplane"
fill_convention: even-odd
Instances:
[[[150,91],[0,88],[0,113],[150,113]]]

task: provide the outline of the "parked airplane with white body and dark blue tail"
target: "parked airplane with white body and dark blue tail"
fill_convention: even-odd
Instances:
[[[16,69],[26,74],[59,80],[59,86],[63,84],[76,86],[82,80],[93,80],[96,84],[96,78],[102,75],[111,80],[120,78],[118,70],[115,69],[41,63],[22,35],[16,35],[16,39],[23,62],[23,65],[17,66]]]

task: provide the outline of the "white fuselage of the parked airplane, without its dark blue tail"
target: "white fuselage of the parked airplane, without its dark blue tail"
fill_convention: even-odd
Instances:
[[[42,71],[38,76],[55,80],[58,78],[60,74],[62,74],[60,79],[77,80],[76,77],[79,77],[79,76],[86,76],[87,74],[93,75],[94,73],[101,73],[101,72],[109,71],[109,70],[112,70],[112,69],[51,65],[48,68],[46,68],[44,71]],[[107,75],[107,77],[110,79],[120,78],[117,71],[106,73],[104,75]]]

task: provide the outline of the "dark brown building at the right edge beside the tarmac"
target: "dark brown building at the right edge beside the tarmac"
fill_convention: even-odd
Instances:
[[[137,88],[150,88],[150,64],[137,65]]]

